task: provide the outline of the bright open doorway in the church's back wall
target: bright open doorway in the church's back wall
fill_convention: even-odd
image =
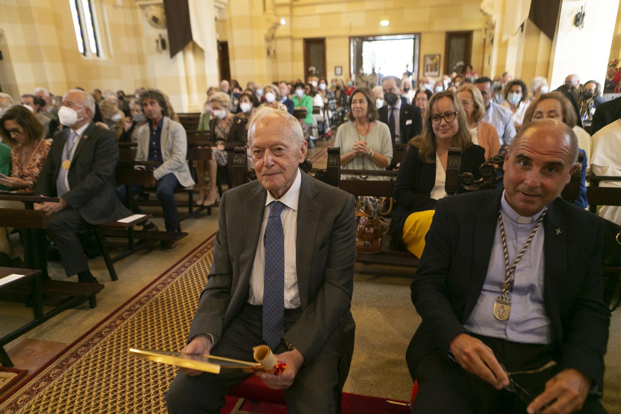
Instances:
[[[418,79],[419,34],[350,37],[350,76],[362,68],[367,75],[375,68],[383,76],[402,78],[407,71]],[[411,51],[411,53],[409,53]]]

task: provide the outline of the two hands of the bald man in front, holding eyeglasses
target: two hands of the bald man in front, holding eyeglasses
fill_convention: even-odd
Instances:
[[[449,346],[455,361],[463,369],[501,390],[509,385],[509,377],[494,352],[479,339],[461,333]],[[545,384],[545,390],[527,407],[528,414],[571,413],[582,408],[591,380],[575,369],[564,369]]]

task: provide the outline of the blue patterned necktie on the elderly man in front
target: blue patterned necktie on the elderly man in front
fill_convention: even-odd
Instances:
[[[275,352],[284,335],[284,234],[280,214],[284,204],[273,201],[265,226],[263,276],[263,339]]]

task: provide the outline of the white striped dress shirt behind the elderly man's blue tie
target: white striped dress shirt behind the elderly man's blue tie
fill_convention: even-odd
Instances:
[[[263,235],[268,223],[268,216],[270,216],[269,205],[272,201],[280,201],[284,204],[283,212],[280,214],[284,236],[284,308],[294,309],[300,306],[296,272],[297,203],[300,198],[300,186],[302,185],[302,176],[300,174],[298,168],[296,180],[278,200],[268,191],[265,208],[263,209],[263,222],[261,223],[259,242],[256,246],[255,262],[250,273],[250,297],[248,298],[250,305],[263,305],[263,283],[265,277],[265,245],[263,244]]]

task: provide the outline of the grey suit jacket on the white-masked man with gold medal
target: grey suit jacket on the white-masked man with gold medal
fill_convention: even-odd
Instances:
[[[71,129],[66,128],[54,136],[35,185],[35,195],[57,195],[56,179],[70,132]],[[114,172],[118,161],[119,145],[114,132],[91,122],[73,154],[67,175],[70,190],[63,195],[63,200],[87,223],[107,223],[132,214],[117,195]]]

